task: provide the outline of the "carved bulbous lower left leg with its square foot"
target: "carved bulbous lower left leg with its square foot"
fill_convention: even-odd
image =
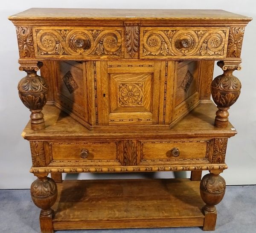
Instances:
[[[57,185],[52,178],[47,177],[48,174],[38,174],[36,179],[31,184],[31,198],[35,205],[41,208],[40,227],[41,233],[53,233],[52,205],[57,199]]]

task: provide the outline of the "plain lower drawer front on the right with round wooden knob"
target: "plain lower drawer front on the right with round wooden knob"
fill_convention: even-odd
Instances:
[[[211,141],[141,141],[140,163],[208,161]]]

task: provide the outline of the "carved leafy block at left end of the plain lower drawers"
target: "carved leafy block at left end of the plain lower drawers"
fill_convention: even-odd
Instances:
[[[31,141],[30,149],[31,149],[33,166],[34,167],[46,166],[44,142],[43,141]]]

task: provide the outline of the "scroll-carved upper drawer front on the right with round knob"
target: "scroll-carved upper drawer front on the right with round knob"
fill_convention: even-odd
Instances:
[[[140,58],[225,58],[228,35],[228,27],[141,27]]]

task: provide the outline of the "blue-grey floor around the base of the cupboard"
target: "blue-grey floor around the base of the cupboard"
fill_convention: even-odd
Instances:
[[[217,206],[215,233],[256,233],[256,186],[228,186]],[[0,233],[37,233],[39,209],[30,199],[29,190],[0,190]],[[195,233],[199,227],[125,229],[125,230],[59,230],[56,233]]]

